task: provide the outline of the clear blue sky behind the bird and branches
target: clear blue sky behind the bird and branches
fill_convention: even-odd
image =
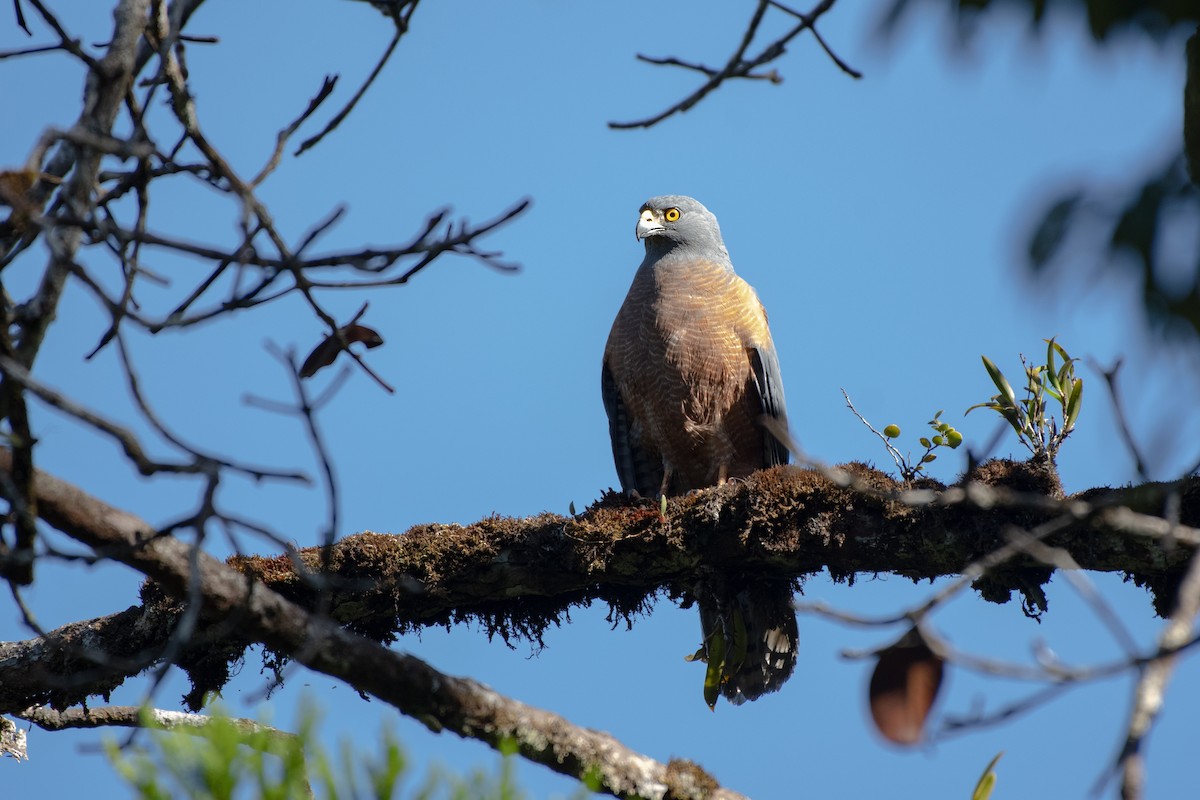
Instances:
[[[107,4],[58,5],[85,42],[107,38]],[[872,36],[880,6],[840,4],[821,24],[836,52],[864,72],[862,80],[800,37],[778,65],[781,85],[732,84],[654,130],[618,132],[605,124],[655,113],[696,85],[694,74],[640,64],[635,53],[722,62],[749,5],[422,5],[355,113],[316,150],[287,157],[262,199],[293,241],[335,206],[348,206],[323,249],[407,241],[445,204],[473,221],[526,197],[533,207],[487,240],[521,264],[518,273],[448,258],[408,285],[370,295],[364,321],[386,339],[370,361],[397,392],[385,395],[356,373],[323,413],[338,465],[338,533],[565,513],[570,503],[582,509],[616,483],[600,354],[641,260],[637,207],[665,193],[691,194],[720,219],[736,267],[770,315],[792,426],[812,456],[890,467],[845,409],[840,389],[878,426],[905,428],[914,449],[938,409],[978,446],[996,426],[979,411],[961,416],[994,391],[979,355],[1013,372],[1019,353],[1036,356],[1044,337],[1057,336],[1073,355],[1102,365],[1126,359],[1129,416],[1139,435],[1156,441],[1156,477],[1194,461],[1187,444],[1200,433],[1192,410],[1200,396],[1196,350],[1147,339],[1128,283],[1076,278],[1051,293],[1021,264],[1026,233],[1048,198],[1081,180],[1126,185],[1177,146],[1182,40],[1159,48],[1121,38],[1098,50],[1073,19],[1055,18],[1033,41],[1021,22],[1000,18],[960,48],[937,14],[916,13],[882,41]],[[26,43],[11,19],[0,28],[0,49]],[[247,176],[326,73],[340,73],[342,84],[318,121],[349,96],[390,36],[365,4],[277,1],[209,4],[190,31],[221,38],[188,50],[192,88],[205,132]],[[49,38],[43,31],[36,41]],[[82,77],[54,55],[7,61],[0,71],[4,108],[20,109],[0,126],[0,161],[19,164],[43,127],[70,125],[78,114]],[[310,124],[299,138],[316,130]],[[155,230],[235,241],[236,211],[223,198],[181,181],[154,203]],[[112,279],[107,261],[89,258]],[[6,287],[22,296],[43,265],[35,249],[10,267]],[[160,312],[206,269],[161,253],[150,266],[175,281],[166,289],[144,285],[143,302]],[[366,297],[326,300],[348,318]],[[83,360],[103,330],[100,308],[73,287],[37,375],[140,429],[115,354]],[[288,300],[132,344],[148,393],[181,435],[316,473],[296,422],[248,408],[244,398],[288,397],[264,342],[304,351],[320,336],[318,321]],[[1102,381],[1084,374],[1080,427],[1060,458],[1069,492],[1135,479]],[[43,469],[158,523],[194,506],[187,480],[138,477],[109,441],[53,410],[37,408],[35,423]],[[158,444],[152,450],[167,452]],[[997,451],[1008,453],[1021,456],[1012,437]],[[952,480],[961,465],[944,457],[934,475]],[[233,479],[222,500],[301,545],[316,543],[325,518],[319,491]],[[241,545],[272,552],[266,542]],[[1110,576],[1094,579],[1136,638],[1151,642],[1159,622],[1146,594]],[[137,585],[125,567],[44,564],[28,599],[43,625],[56,626],[127,607]],[[936,621],[961,648],[1014,660],[1030,658],[1038,640],[1080,663],[1118,654],[1066,582],[1049,589],[1042,624],[1024,619],[1016,604],[973,596]],[[816,576],[805,595],[878,613],[931,590],[888,576],[852,588]],[[802,790],[966,796],[1001,750],[996,796],[1082,796],[1117,746],[1128,679],[1075,691],[1010,726],[899,752],[869,729],[869,668],[838,655],[899,631],[851,631],[806,616],[800,631],[799,664],[780,693],[742,708],[721,704],[715,714],[701,699],[702,668],[683,662],[698,643],[696,613],[666,601],[632,631],[611,630],[604,608],[577,609],[536,655],[488,642],[473,627],[426,631],[397,646],[608,730],[655,758],[692,758],[756,798]],[[0,639],[28,636],[16,609],[0,601]],[[226,694],[238,714],[264,706],[256,658]],[[1192,782],[1182,754],[1190,741],[1186,709],[1200,702],[1198,678],[1195,661],[1184,660],[1151,740],[1152,795],[1175,795]],[[137,702],[142,688],[131,685],[114,702]],[[302,688],[324,706],[323,736],[331,742],[352,736],[370,750],[380,722],[397,717],[324,676],[294,673],[265,704],[275,720],[287,723]],[[954,672],[937,710],[992,708],[1021,690]],[[157,703],[170,706],[181,692],[181,682],[168,685]],[[474,742],[431,735],[409,720],[396,727],[421,762],[493,762]],[[102,757],[80,750],[96,740],[34,730],[30,763],[0,765],[4,781],[14,796],[47,786],[64,795],[122,796]],[[570,790],[542,768],[522,765],[520,775],[534,796]]]

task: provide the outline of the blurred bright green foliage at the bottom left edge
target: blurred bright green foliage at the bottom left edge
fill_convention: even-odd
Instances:
[[[456,775],[433,766],[426,778],[403,789],[413,768],[396,735],[386,726],[378,735],[374,752],[342,741],[337,757],[320,745],[318,715],[310,703],[301,708],[299,730],[287,734],[247,726],[214,710],[212,721],[198,728],[157,728],[146,714],[143,723],[156,728],[144,744],[106,748],[109,762],[140,800],[188,798],[191,800],[234,800],[262,798],[326,798],[329,800],[520,800],[526,794],[516,786],[512,752],[504,753],[496,772],[476,769]],[[589,796],[582,788],[576,800]]]

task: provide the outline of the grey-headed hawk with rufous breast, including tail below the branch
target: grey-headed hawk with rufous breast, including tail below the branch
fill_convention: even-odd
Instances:
[[[733,272],[716,217],[683,196],[647,200],[646,258],[605,347],[601,392],[622,488],[673,495],[787,463],[762,417],[787,426],[767,313]],[[697,588],[703,654],[734,703],[774,691],[796,664],[790,594],[738,577]],[[714,660],[724,664],[714,664]],[[740,660],[740,661],[738,661]],[[709,705],[715,690],[706,690]]]

